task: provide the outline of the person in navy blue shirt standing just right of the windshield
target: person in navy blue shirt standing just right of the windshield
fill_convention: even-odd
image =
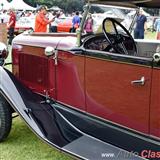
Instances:
[[[143,9],[140,9],[139,15],[136,19],[136,27],[134,30],[135,39],[144,39],[144,32],[147,30],[146,22],[147,22],[147,18],[143,14]]]

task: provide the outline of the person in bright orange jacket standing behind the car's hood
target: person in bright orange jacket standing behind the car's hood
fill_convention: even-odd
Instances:
[[[48,20],[46,18],[46,14],[47,7],[41,6],[35,19],[35,32],[47,32],[47,25],[54,21],[54,18],[52,20]]]

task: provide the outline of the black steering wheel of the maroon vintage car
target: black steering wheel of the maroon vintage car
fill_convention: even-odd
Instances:
[[[106,24],[110,24],[112,27],[112,32],[107,32]],[[128,30],[114,18],[105,18],[102,24],[103,33],[110,44],[110,48],[117,53],[126,55],[136,55],[137,47],[134,39]]]

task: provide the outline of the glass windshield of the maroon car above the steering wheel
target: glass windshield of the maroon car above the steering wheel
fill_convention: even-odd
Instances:
[[[102,22],[106,17],[117,19],[129,29],[135,17],[136,9],[93,4],[89,12],[93,19],[93,32],[101,33]]]

